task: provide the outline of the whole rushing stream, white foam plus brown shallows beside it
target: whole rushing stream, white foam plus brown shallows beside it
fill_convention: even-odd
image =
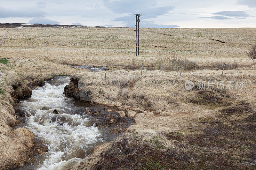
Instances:
[[[94,146],[122,134],[134,121],[121,117],[122,110],[117,107],[65,97],[64,87],[69,82],[68,76],[45,81],[45,85],[32,90],[29,99],[17,104],[16,109],[25,114],[20,114],[18,118],[24,121],[14,129],[29,129],[48,149],[33,163],[17,169],[68,169],[83,161]]]

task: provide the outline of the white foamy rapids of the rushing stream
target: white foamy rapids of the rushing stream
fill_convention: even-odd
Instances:
[[[19,169],[68,169],[84,160],[93,146],[102,143],[101,132],[86,118],[84,107],[77,106],[63,94],[69,82],[69,77],[56,77],[45,86],[34,89],[30,99],[19,103],[18,108],[30,115],[26,117],[24,127],[43,141],[49,150],[37,156],[32,164]],[[53,114],[54,109],[59,114]],[[63,116],[67,122],[52,122],[55,116]]]

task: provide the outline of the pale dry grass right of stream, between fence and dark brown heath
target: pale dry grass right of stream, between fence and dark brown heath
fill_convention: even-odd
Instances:
[[[181,130],[195,124],[196,119],[216,115],[220,108],[219,103],[194,104],[191,99],[203,98],[197,91],[185,90],[185,81],[244,81],[242,90],[231,89],[225,102],[247,101],[255,106],[256,67],[246,70],[221,71],[198,70],[184,72],[182,76],[176,71],[107,71],[107,83],[104,72],[81,72],[74,78],[79,80],[80,92],[91,93],[92,102],[115,105],[130,110],[144,110],[143,114],[135,116],[135,124],[129,129],[137,131],[168,131]],[[207,85],[207,83],[206,83]],[[227,101],[226,101],[227,100]],[[134,116],[134,115],[133,115]],[[172,126],[170,126],[170,124]]]

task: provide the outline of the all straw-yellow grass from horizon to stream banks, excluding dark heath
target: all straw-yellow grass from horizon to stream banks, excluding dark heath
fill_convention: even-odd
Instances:
[[[76,73],[74,77],[79,79],[80,91],[92,92],[92,102],[128,110],[128,116],[135,118],[128,130],[156,135],[170,131],[198,134],[203,126],[200,121],[214,119],[227,103],[233,106],[245,101],[256,106],[256,67],[246,56],[250,46],[256,43],[256,28],[141,28],[140,31],[141,55],[136,57],[133,28],[8,28],[5,45],[0,46],[0,57],[11,58],[10,63],[4,65],[0,78],[0,90],[4,91],[0,94],[0,150],[5,155],[1,157],[0,165],[14,167],[32,161],[29,157],[17,157],[27,150],[26,147],[31,147],[29,141],[33,134],[25,133],[25,129],[12,131],[9,126],[18,122],[11,105],[12,85],[26,85],[54,75]],[[0,36],[4,34],[2,29]],[[224,43],[209,39],[225,41],[225,47]],[[237,62],[243,64],[243,68],[225,70],[223,77],[219,70],[184,71],[180,77],[177,71],[143,70],[140,76],[140,70],[113,69],[106,71],[105,83],[105,72],[81,72],[81,69],[61,65],[126,69],[133,68],[134,59],[135,67],[141,67],[143,61],[144,66],[158,69],[160,55],[163,58],[169,55],[187,58],[202,67],[222,61]],[[243,80],[245,83],[242,90],[228,90],[219,103],[211,103],[211,99],[208,101],[204,97],[218,98],[219,92],[186,91],[186,80],[195,83],[199,80]],[[239,116],[242,119],[244,115]],[[236,118],[230,116],[228,121]],[[14,136],[17,140],[22,137],[29,146],[16,143]],[[22,147],[22,150],[17,149]],[[7,159],[8,153],[12,155],[10,159]]]

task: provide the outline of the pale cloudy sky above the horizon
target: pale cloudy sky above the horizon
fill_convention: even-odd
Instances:
[[[256,0],[0,0],[0,23],[256,27]]]

